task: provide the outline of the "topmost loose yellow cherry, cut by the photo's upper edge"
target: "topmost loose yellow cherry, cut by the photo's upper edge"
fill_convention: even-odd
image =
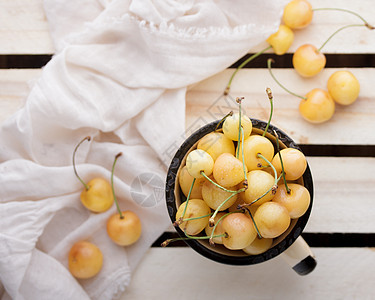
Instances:
[[[311,23],[313,10],[306,0],[292,0],[284,8],[283,21],[291,29],[301,29]]]

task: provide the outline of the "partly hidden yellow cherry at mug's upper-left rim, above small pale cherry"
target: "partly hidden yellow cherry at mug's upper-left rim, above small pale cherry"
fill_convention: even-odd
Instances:
[[[211,132],[198,142],[197,149],[202,149],[211,155],[215,161],[223,153],[234,155],[233,141],[221,132]]]

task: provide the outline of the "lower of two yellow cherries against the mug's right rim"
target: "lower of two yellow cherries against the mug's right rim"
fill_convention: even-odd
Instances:
[[[280,203],[289,212],[291,219],[296,219],[305,214],[310,205],[310,193],[300,184],[288,183],[289,193],[285,185],[279,185],[275,197],[272,201]]]

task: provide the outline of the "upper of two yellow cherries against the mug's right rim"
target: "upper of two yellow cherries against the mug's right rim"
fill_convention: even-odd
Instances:
[[[285,148],[280,150],[280,155],[283,159],[286,180],[297,180],[305,173],[307,161],[305,155],[300,150]],[[280,155],[279,153],[275,154],[271,162],[278,175],[280,175],[282,171]]]

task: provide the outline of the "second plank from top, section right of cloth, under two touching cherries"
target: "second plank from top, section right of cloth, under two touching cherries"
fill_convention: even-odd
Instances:
[[[325,69],[317,77],[304,79],[293,69],[274,69],[274,74],[290,90],[300,95],[313,88],[326,89],[329,76],[338,69]],[[233,80],[231,95],[245,97],[243,108],[252,118],[268,120],[270,105],[265,89],[270,87],[274,95],[272,123],[287,132],[300,144],[347,144],[374,145],[375,96],[371,78],[375,68],[349,69],[359,80],[361,92],[350,106],[336,105],[333,118],[323,124],[311,124],[302,119],[298,106],[300,99],[281,89],[267,69],[243,69]],[[222,118],[230,110],[236,110],[234,101],[221,97],[234,72],[227,69],[194,86],[187,93],[186,127],[191,132],[199,124]]]

